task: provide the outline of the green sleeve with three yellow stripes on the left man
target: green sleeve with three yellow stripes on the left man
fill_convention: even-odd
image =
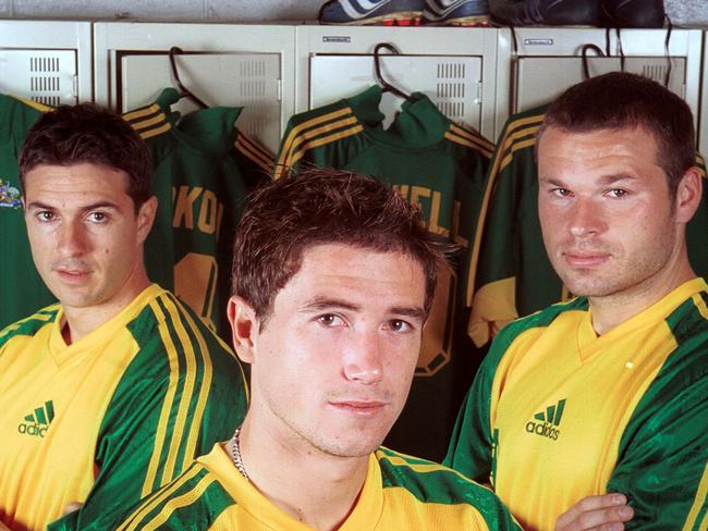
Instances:
[[[179,344],[173,335],[176,373],[159,332],[136,320],[132,332],[141,353],[123,374],[103,417],[94,486],[81,510],[52,523],[50,531],[114,529],[117,518],[144,493],[169,483],[195,457],[228,440],[243,421],[247,394],[239,361],[192,310],[175,307],[190,339]],[[147,307],[144,313],[149,311]],[[184,422],[181,430],[175,428],[180,421]]]

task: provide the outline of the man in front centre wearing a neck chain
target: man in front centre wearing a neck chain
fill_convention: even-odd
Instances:
[[[517,529],[491,491],[379,446],[442,263],[418,212],[373,178],[306,170],[256,193],[228,309],[252,367],[246,419],[118,529]]]

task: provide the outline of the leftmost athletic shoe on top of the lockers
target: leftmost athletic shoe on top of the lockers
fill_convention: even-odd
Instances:
[[[329,0],[319,10],[320,24],[418,26],[424,0]]]

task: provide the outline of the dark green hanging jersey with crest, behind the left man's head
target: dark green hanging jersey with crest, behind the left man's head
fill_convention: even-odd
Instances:
[[[17,169],[29,128],[48,110],[0,94],[0,330],[57,300],[32,260]]]

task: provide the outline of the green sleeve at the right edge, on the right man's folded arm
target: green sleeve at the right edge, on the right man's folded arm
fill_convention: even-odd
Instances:
[[[706,529],[708,336],[692,343],[667,360],[622,435],[607,490],[634,508],[627,530]]]

